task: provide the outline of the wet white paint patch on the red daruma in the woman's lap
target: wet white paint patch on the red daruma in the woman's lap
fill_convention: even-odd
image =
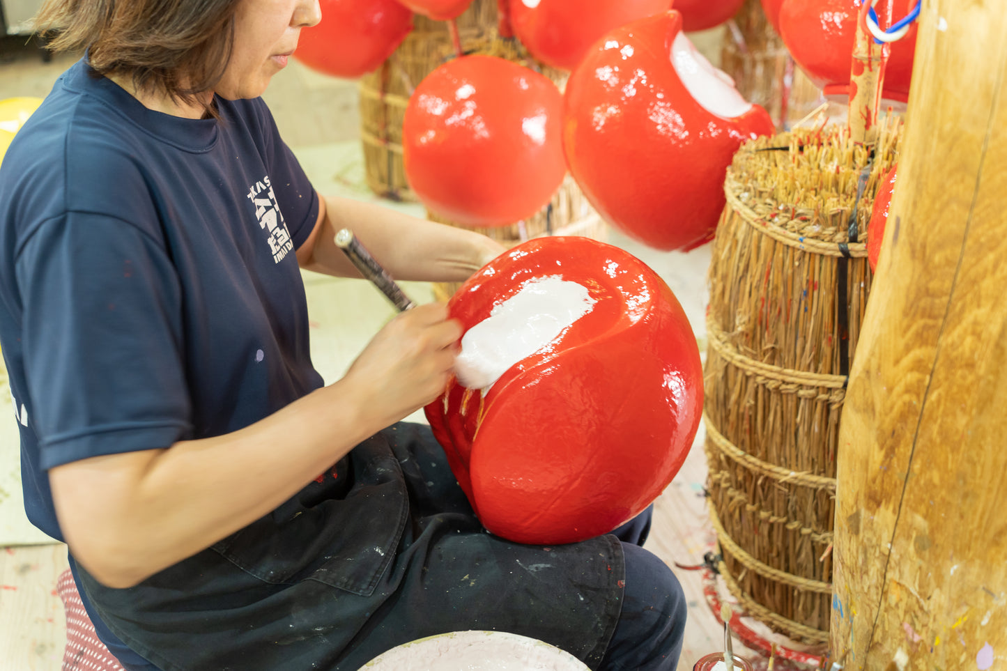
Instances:
[[[508,369],[590,312],[595,302],[586,287],[559,276],[526,282],[462,337],[454,363],[458,382],[468,389],[489,389]]]

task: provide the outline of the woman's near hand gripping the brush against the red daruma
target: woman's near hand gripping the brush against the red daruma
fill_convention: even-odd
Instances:
[[[388,426],[444,391],[461,334],[444,303],[407,310],[375,336],[342,381],[361,390],[361,406]]]

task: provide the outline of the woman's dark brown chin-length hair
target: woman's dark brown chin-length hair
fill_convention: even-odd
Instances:
[[[35,29],[56,51],[88,49],[106,77],[188,104],[211,91],[234,46],[239,0],[45,0]],[[207,104],[207,112],[217,116]]]

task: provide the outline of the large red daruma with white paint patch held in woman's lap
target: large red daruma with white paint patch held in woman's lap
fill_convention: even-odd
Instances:
[[[653,270],[588,238],[535,239],[448,308],[465,329],[457,378],[426,415],[486,529],[580,541],[664,491],[699,426],[703,370]]]

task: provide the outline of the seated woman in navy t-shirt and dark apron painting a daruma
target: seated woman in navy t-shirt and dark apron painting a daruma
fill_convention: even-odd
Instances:
[[[442,304],[323,386],[299,267],[402,279],[501,251],[311,187],[259,98],[317,0],[50,0],[83,48],[0,168],[0,339],[29,518],[69,546],[128,669],[356,669],[496,629],[592,668],[674,669],[681,590],[642,542],[488,535],[424,426],[450,375]],[[334,464],[334,465],[333,465]],[[321,475],[319,475],[321,474]]]

